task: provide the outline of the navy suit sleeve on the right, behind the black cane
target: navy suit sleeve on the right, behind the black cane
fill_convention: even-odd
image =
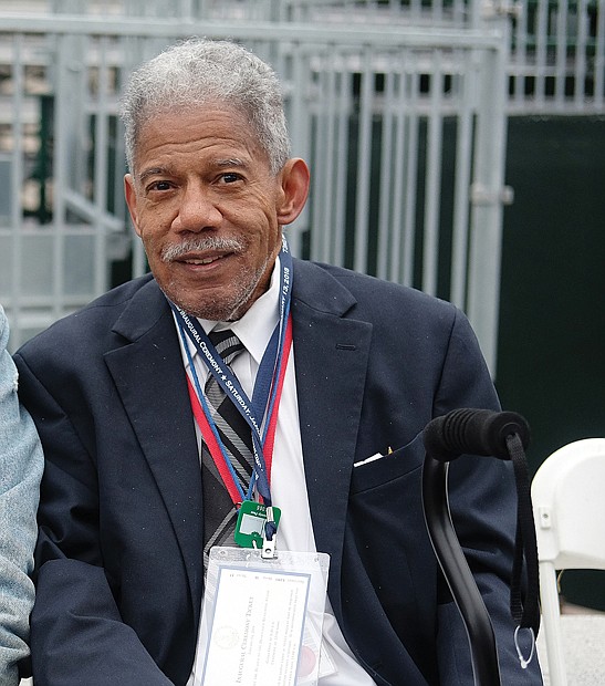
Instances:
[[[500,408],[476,336],[460,313],[451,330],[434,415],[457,407]],[[448,495],[457,536],[494,628],[502,684],[541,684],[538,657],[523,669],[514,646],[510,581],[517,493],[512,465],[462,456],[450,465]],[[452,601],[439,606],[438,623],[441,684],[472,684],[468,637]]]

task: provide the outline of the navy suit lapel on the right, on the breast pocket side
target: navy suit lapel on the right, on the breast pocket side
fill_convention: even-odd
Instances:
[[[344,319],[355,299],[324,269],[295,261],[292,316],[306,488],[319,551],[331,555],[330,596],[341,617],[348,490],[372,325]]]

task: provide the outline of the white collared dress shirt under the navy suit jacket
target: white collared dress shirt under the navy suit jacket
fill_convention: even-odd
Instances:
[[[252,304],[250,310],[240,320],[218,323],[198,320],[206,333],[215,329],[230,329],[243,344],[246,350],[236,357],[231,368],[249,398],[252,397],[254,380],[264,350],[279,321],[279,267],[278,258],[269,290]],[[294,278],[296,278],[295,274]],[[189,363],[187,354],[182,349],[180,336],[179,340],[181,342],[184,364],[187,373],[189,373]],[[189,340],[188,345],[196,373],[204,387],[208,376],[208,368]],[[294,374],[294,346],[292,346],[279,407],[271,469],[271,499],[282,510],[278,532],[278,549],[296,552],[316,552],[304,476],[296,378]],[[201,455],[201,433],[197,424],[196,434]],[[199,649],[196,651],[194,671],[198,659],[202,659],[200,653]],[[188,684],[192,684],[192,675]],[[327,597],[322,631],[322,659],[319,684],[321,686],[343,686],[344,684],[347,686],[375,686],[375,682],[359,666],[346,644]]]

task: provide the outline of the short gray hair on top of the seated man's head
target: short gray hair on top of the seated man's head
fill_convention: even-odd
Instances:
[[[290,157],[281,86],[260,58],[230,41],[188,39],[135,71],[122,98],[133,170],[142,126],[157,114],[223,103],[246,115],[273,174]]]

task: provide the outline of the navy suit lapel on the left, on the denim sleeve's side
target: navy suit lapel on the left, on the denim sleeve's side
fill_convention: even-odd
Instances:
[[[197,621],[202,590],[197,440],[176,328],[155,281],[137,292],[114,331],[131,343],[106,353],[106,364],[171,520]]]

